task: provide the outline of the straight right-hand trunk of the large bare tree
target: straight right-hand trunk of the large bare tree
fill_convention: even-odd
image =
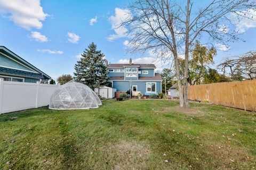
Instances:
[[[189,107],[188,102],[188,60],[189,60],[189,3],[187,1],[187,16],[186,16],[186,41],[185,41],[185,70],[184,70],[184,83],[183,83],[183,92],[184,92],[184,107]]]

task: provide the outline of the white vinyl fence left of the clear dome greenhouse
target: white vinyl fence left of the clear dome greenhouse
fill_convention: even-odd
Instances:
[[[0,78],[0,114],[47,106],[59,85],[8,82]]]

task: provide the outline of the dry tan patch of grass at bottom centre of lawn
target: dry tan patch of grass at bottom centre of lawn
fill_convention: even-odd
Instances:
[[[116,152],[118,159],[114,169],[148,169],[146,162],[150,150],[146,143],[120,141],[111,149]]]

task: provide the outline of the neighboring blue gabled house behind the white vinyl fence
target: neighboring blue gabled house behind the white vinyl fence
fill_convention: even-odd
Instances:
[[[43,71],[4,46],[0,46],[0,78],[4,78],[5,81],[27,83],[51,79]]]

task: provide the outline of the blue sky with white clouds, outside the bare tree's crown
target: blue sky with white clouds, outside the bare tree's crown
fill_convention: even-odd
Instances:
[[[0,45],[54,79],[62,74],[73,75],[77,56],[91,42],[111,63],[126,62],[130,57],[138,62],[154,62],[149,53],[127,53],[127,38],[119,34],[123,30],[112,27],[122,19],[128,4],[120,0],[0,0]],[[255,50],[256,22],[244,21],[242,25],[246,42],[231,43],[228,51],[218,51],[215,63],[225,56]]]

